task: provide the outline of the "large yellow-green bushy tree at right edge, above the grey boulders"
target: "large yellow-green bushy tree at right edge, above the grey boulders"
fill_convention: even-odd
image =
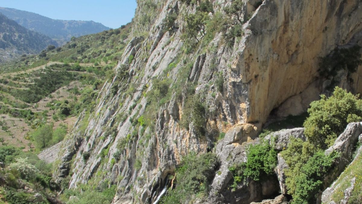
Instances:
[[[308,141],[320,148],[331,145],[349,122],[359,122],[362,117],[362,101],[358,96],[336,87],[333,95],[321,95],[308,109],[310,117],[304,122]]]

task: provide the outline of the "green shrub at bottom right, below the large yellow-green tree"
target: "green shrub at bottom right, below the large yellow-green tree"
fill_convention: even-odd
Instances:
[[[291,138],[288,148],[282,151],[289,168],[285,170],[288,193],[293,203],[315,203],[315,192],[321,190],[325,174],[332,167],[336,152],[325,155],[310,142]]]

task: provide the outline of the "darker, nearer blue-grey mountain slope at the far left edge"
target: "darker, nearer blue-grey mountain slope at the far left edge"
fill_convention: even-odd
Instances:
[[[0,62],[21,54],[37,54],[48,45],[58,46],[50,37],[28,30],[0,13]]]

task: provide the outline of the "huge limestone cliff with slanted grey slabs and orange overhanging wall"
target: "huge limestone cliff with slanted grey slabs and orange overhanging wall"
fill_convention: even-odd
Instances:
[[[359,0],[264,0],[260,6],[257,1],[245,2],[241,13],[251,18],[243,24],[245,35],[232,47],[224,43],[222,33],[216,33],[206,48],[183,54],[183,16],[194,13],[195,6],[177,0],[138,0],[134,38],[115,68],[113,81],[102,87],[89,119],[81,117],[64,141],[58,181],[68,171],[70,188],[90,179],[108,179],[117,184],[114,203],[151,202],[182,155],[212,149],[218,132],[227,132],[237,123],[253,123],[257,132],[277,107],[281,115],[306,110],[323,91],[318,58],[337,46],[362,45]],[[230,4],[224,0],[212,3],[220,12]],[[163,28],[169,13],[178,15],[173,32]],[[178,64],[169,70],[175,61]],[[144,114],[153,79],[169,78],[170,87],[174,86],[178,73],[184,72],[183,61],[193,64],[187,81],[198,84],[195,92],[205,95],[209,107],[205,134],[200,136],[192,123],[189,130],[179,125],[185,90],[179,97],[174,93],[157,110],[154,129],[136,128],[132,122]],[[341,80],[341,85],[362,92],[361,70],[352,76],[354,83]],[[119,74],[124,71],[127,74]],[[221,72],[224,85],[220,92],[215,81]],[[82,120],[88,123],[85,130]],[[120,154],[117,159],[115,152]]]

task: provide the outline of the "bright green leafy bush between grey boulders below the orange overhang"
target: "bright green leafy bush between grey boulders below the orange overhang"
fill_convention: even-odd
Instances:
[[[259,181],[273,175],[276,165],[277,151],[268,141],[252,144],[247,150],[247,161],[229,168],[233,174],[232,188],[235,189],[237,184],[246,178]]]

